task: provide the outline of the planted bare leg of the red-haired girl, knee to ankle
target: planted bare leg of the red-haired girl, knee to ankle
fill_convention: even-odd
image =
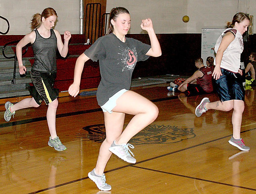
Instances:
[[[48,104],[48,109],[46,113],[47,123],[48,123],[49,131],[52,139],[57,137],[57,134],[56,134],[57,107],[58,107],[58,99],[56,98],[54,101]]]

